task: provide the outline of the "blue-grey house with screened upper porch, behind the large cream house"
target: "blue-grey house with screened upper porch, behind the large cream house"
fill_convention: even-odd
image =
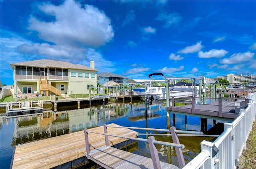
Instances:
[[[129,80],[128,77],[124,77],[122,75],[116,75],[114,73],[108,73],[108,72],[102,72],[97,75],[97,81],[100,85],[105,84],[108,81],[114,81],[118,83],[118,85],[127,84],[127,81]]]

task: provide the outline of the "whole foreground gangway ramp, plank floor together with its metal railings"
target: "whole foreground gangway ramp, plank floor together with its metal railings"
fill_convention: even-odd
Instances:
[[[84,129],[84,136],[85,136],[85,142],[86,142],[85,156],[87,157],[87,159],[94,161],[95,163],[97,163],[98,165],[106,169],[123,169],[123,168],[125,169],[161,169],[161,168],[162,169],[179,169],[175,165],[160,161],[156,145],[167,145],[167,146],[175,147],[180,168],[185,166],[185,161],[182,154],[182,148],[184,149],[185,146],[183,144],[180,144],[180,141],[177,135],[178,131],[176,130],[175,127],[171,127],[170,130],[150,128],[150,130],[153,130],[153,131],[156,130],[156,131],[170,132],[172,134],[172,140],[174,141],[174,143],[157,141],[153,136],[149,136],[147,139],[143,139],[143,138],[128,138],[128,137],[109,134],[108,129],[113,127],[148,130],[148,128],[122,127],[122,126],[116,127],[116,126],[109,126],[106,124],[104,124],[104,133],[95,133],[87,129]],[[197,134],[198,132],[186,131],[186,133]],[[199,133],[202,134],[201,132]],[[92,149],[90,146],[89,134],[104,135],[106,145],[102,147],[98,147],[96,149]],[[115,147],[111,147],[109,145],[109,140],[108,140],[109,136],[126,138],[129,140],[144,141],[148,143],[151,158],[133,154],[121,149],[117,149]]]

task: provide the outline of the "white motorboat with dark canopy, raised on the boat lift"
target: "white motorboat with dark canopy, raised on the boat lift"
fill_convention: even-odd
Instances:
[[[152,79],[152,75],[164,76],[162,73],[152,73],[149,75],[150,79]],[[193,83],[178,82],[173,86],[169,86],[169,90],[170,98],[192,97],[199,94],[199,86]],[[148,87],[145,92],[150,101],[166,99],[166,94],[166,86]]]

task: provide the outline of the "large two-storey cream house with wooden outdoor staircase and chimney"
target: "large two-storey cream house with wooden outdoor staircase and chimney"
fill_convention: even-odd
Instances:
[[[94,61],[90,67],[64,61],[40,59],[10,64],[16,94],[82,94],[97,86]]]

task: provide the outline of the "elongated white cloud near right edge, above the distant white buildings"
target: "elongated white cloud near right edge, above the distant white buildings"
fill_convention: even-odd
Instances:
[[[245,53],[235,53],[231,55],[230,58],[225,58],[220,61],[222,64],[236,64],[248,61],[254,57],[255,53],[251,53],[250,51]]]

